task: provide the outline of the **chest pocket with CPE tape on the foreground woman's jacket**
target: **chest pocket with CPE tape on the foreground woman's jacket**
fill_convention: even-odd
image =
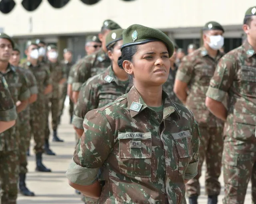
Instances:
[[[175,146],[178,150],[179,167],[178,174],[183,175],[184,171],[188,167],[190,160],[192,159],[192,144],[191,135],[189,130],[180,131],[178,133],[172,133]]]

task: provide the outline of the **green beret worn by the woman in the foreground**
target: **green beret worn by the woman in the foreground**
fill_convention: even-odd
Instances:
[[[161,41],[166,45],[169,57],[171,57],[174,52],[174,45],[166,34],[158,29],[138,24],[129,26],[123,31],[123,40],[124,43],[121,50],[124,47],[128,47],[131,45],[141,45],[152,41]]]

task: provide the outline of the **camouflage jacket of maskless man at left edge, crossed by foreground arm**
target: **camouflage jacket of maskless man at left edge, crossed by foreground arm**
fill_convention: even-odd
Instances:
[[[18,100],[24,101],[30,98],[28,79],[19,67],[13,67],[9,64],[6,72],[2,74],[6,79],[8,88],[12,95],[12,100],[16,104]],[[17,118],[18,119],[18,118]],[[0,133],[0,151],[16,150],[20,142],[18,133],[18,120],[12,128]]]

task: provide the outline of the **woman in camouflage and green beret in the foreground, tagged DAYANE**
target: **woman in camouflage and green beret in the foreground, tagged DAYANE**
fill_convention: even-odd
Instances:
[[[161,31],[136,24],[123,31],[123,40],[119,65],[134,86],[86,114],[69,184],[104,204],[186,203],[199,133],[192,113],[162,91],[174,45]]]

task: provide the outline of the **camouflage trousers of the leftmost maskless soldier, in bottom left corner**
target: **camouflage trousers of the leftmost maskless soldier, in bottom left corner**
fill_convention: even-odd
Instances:
[[[19,152],[0,151],[1,204],[16,204],[18,177]]]

